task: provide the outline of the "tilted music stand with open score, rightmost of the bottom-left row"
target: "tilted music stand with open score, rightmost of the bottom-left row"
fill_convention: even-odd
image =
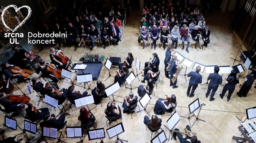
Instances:
[[[118,135],[125,132],[125,129],[124,129],[123,123],[121,122],[115,126],[112,126],[108,129],[106,129],[106,131],[107,131],[107,136],[109,136],[109,139],[116,136],[117,137],[116,141],[118,141],[118,140],[122,140],[122,139],[118,138]],[[122,141],[126,141],[126,140],[122,140]],[[128,142],[128,141],[126,141],[126,142]]]

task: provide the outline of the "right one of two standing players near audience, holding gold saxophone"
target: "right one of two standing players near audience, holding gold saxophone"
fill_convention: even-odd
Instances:
[[[172,59],[173,59],[173,60],[171,61],[171,63],[170,63],[170,68],[169,68],[169,73],[170,73],[170,87],[173,86],[173,89],[176,89],[176,88],[179,87],[178,85],[176,85],[178,79],[176,79],[175,82],[172,82],[171,79],[172,79],[173,77],[177,77],[177,76],[178,76],[178,75],[175,75],[176,70],[177,70],[176,61],[178,61],[178,58],[177,58],[177,56],[173,56]]]

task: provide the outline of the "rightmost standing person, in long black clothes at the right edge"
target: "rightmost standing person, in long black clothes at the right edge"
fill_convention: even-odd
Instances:
[[[246,75],[245,82],[242,85],[241,89],[239,92],[237,92],[237,95],[239,97],[246,97],[248,94],[249,90],[251,89],[253,82],[256,82],[256,69],[253,68],[252,72]]]

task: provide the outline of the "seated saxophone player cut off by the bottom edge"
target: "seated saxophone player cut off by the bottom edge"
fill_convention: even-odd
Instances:
[[[189,125],[186,126],[186,128],[191,131]],[[179,131],[179,129],[175,129],[175,131]],[[180,140],[180,143],[201,143],[201,141],[197,140],[197,136],[193,136],[192,133],[187,135],[183,135],[181,133],[173,132],[173,139],[176,141],[176,136],[178,136],[178,139]]]

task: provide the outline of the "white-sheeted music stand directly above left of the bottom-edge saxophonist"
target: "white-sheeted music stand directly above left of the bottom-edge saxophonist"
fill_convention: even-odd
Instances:
[[[167,120],[167,126],[165,126],[169,131],[169,138],[168,138],[168,141],[170,140],[170,135],[171,135],[171,140],[173,139],[173,128],[176,126],[176,124],[178,124],[178,122],[180,121],[180,116],[178,115],[178,113],[175,111],[171,117]]]

